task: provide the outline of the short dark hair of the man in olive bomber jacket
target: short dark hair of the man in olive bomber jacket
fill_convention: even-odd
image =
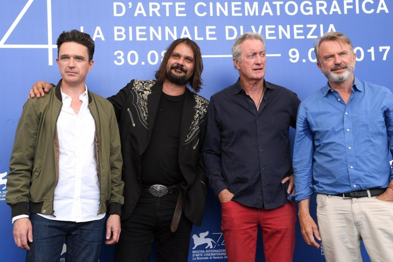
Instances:
[[[89,34],[83,33],[81,31],[78,31],[76,29],[72,29],[71,31],[63,31],[60,35],[59,38],[57,38],[57,57],[59,57],[59,49],[60,46],[65,43],[65,42],[75,42],[78,44],[82,44],[87,47],[88,53],[89,53],[89,62],[93,60],[93,55],[94,55],[94,40],[90,37]]]

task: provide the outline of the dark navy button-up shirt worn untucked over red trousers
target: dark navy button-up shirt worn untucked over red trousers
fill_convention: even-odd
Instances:
[[[202,154],[216,195],[228,189],[234,201],[272,209],[287,203],[281,180],[292,174],[289,127],[300,101],[282,86],[264,87],[258,111],[240,80],[211,97]]]

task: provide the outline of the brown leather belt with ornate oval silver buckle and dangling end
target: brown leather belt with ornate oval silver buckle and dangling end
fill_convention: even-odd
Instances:
[[[166,187],[164,185],[142,185],[142,191],[149,192],[153,196],[165,196],[166,194],[179,193],[179,198],[177,200],[176,208],[174,209],[171,231],[175,232],[179,225],[180,216],[182,216],[183,210],[183,194],[177,185]]]

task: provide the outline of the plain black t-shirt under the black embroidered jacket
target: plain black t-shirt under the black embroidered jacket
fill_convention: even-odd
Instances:
[[[184,180],[179,166],[180,123],[185,93],[162,93],[152,135],[141,156],[143,185],[176,185]]]

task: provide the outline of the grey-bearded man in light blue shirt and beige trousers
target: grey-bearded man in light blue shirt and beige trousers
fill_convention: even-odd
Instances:
[[[307,244],[326,261],[393,257],[393,95],[353,75],[356,53],[348,37],[329,32],[316,42],[317,65],[328,84],[298,110],[294,176],[299,221]],[[317,193],[318,227],[309,213]],[[315,238],[314,238],[315,236]]]

